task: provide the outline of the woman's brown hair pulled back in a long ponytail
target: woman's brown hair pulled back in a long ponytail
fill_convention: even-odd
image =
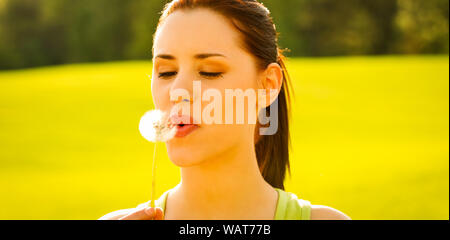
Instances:
[[[285,57],[278,47],[278,33],[269,10],[256,0],[173,0],[169,2],[159,19],[158,27],[174,11],[207,8],[231,20],[243,37],[243,47],[251,53],[260,69],[278,63],[283,69],[283,84],[278,95],[278,131],[274,135],[255,132],[255,152],[264,179],[275,188],[284,190],[289,165],[289,103],[290,78]],[[265,110],[269,113],[270,106]],[[263,110],[264,111],[264,110]]]

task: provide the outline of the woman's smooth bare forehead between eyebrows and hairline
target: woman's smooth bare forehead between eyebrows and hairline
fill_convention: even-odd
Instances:
[[[240,48],[238,31],[231,21],[208,9],[177,10],[158,28],[154,55],[222,52],[233,55]]]

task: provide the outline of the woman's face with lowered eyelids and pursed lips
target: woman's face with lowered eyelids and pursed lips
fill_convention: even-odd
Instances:
[[[193,82],[200,81],[202,93],[208,89],[220,91],[224,123],[225,114],[229,114],[225,110],[225,89],[257,91],[259,86],[260,71],[240,43],[233,25],[211,10],[172,13],[155,34],[152,94],[156,108],[170,112],[177,104],[170,100],[170,92],[185,89],[192,97]],[[202,102],[202,111],[209,103]],[[246,105],[246,120],[247,108]],[[190,114],[194,117],[192,102]],[[236,110],[233,114],[236,116]],[[254,124],[205,124],[204,119],[201,122],[187,136],[166,143],[169,157],[177,166],[198,165],[238,148],[254,146]]]

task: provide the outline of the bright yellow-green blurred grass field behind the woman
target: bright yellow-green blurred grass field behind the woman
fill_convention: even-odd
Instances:
[[[291,59],[286,190],[353,219],[448,219],[448,64]],[[147,201],[150,74],[150,62],[0,72],[0,219],[97,219]],[[158,154],[159,195],[179,169]]]

